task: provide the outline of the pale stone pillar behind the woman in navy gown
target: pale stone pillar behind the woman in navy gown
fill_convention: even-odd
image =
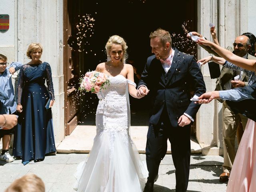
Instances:
[[[42,61],[52,68],[55,104],[52,108],[56,146],[64,139],[63,4],[62,0],[18,0],[18,60],[30,61],[30,43],[43,46]]]

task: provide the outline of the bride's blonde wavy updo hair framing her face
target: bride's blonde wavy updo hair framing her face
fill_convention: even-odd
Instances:
[[[128,54],[126,52],[128,46],[126,45],[126,42],[125,40],[118,36],[118,35],[113,35],[111,36],[109,39],[108,39],[108,42],[106,43],[106,46],[105,46],[105,49],[106,49],[106,53],[108,54],[108,57],[110,56],[110,49],[111,49],[111,46],[114,45],[114,44],[118,44],[118,45],[121,45],[122,46],[122,49],[123,49],[123,57],[121,59],[121,61],[124,63],[125,60],[128,58]]]

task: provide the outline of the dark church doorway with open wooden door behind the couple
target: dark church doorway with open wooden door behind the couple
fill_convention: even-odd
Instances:
[[[152,55],[149,34],[157,28],[172,34],[173,46],[178,50],[195,55],[197,46],[186,39],[185,30],[197,30],[197,1],[64,0],[64,44],[72,47],[64,53],[66,124],[76,117],[75,123],[95,125],[98,99],[95,94],[80,94],[78,81],[88,70],[95,70],[97,64],[106,61],[104,47],[108,38],[117,34],[126,40],[129,59],[141,73],[146,58]],[[71,89],[73,92],[69,93]],[[131,124],[146,126],[147,99],[134,103],[137,114],[131,116]],[[72,115],[70,109],[75,109]]]

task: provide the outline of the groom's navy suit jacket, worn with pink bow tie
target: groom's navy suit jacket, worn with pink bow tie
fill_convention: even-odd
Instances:
[[[186,113],[195,118],[200,105],[190,101],[190,91],[197,96],[206,92],[202,73],[194,56],[179,52],[176,48],[172,65],[166,74],[156,56],[147,59],[138,87],[145,85],[152,96],[152,110],[149,123],[156,125],[166,105],[166,110],[173,127],[178,126],[178,119]],[[192,89],[191,89],[192,88]]]

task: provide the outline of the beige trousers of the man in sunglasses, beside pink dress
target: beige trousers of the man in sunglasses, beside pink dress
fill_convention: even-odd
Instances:
[[[245,129],[248,118],[242,114],[235,114],[226,102],[222,104],[222,119],[223,119],[223,156],[224,164],[222,165],[223,171],[230,173],[234,159],[235,152],[235,138],[236,130],[238,129],[240,122],[242,122],[243,129]]]

